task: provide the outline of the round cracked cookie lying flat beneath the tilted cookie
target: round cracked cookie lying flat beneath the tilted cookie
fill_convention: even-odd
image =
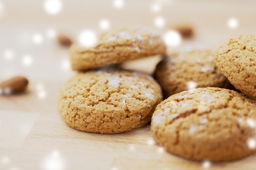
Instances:
[[[161,88],[148,74],[94,70],[67,81],[61,89],[58,108],[74,129],[121,133],[150,122],[161,101]]]

